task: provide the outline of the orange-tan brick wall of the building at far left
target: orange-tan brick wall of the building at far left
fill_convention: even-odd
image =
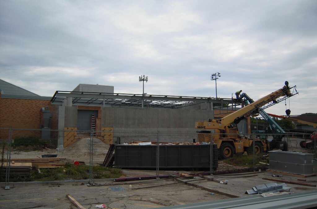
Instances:
[[[18,129],[41,129],[43,124],[42,107],[49,107],[51,118],[51,129],[58,128],[58,106],[52,105],[49,100],[31,99],[7,99],[0,97],[0,127]],[[17,131],[13,132],[15,137],[39,137],[40,131]],[[53,134],[55,135],[55,134]]]

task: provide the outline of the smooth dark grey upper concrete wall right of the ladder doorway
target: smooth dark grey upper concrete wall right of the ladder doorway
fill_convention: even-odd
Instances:
[[[212,110],[101,108],[101,127],[114,131],[196,131],[195,122],[213,118]]]

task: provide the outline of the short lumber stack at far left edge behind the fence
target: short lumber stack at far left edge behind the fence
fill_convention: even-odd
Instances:
[[[2,176],[6,175],[7,162],[0,162],[0,169],[2,170]],[[27,176],[31,174],[32,163],[28,162],[10,162],[10,175],[13,176]]]

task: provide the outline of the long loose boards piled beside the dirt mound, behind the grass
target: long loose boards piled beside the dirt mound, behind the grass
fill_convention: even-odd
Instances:
[[[67,162],[66,158],[13,158],[10,159],[10,162],[12,161],[31,163],[31,166],[37,166],[38,168],[64,167]]]

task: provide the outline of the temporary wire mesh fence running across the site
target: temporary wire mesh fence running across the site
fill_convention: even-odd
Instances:
[[[165,178],[268,168],[268,151],[313,153],[310,134],[216,134],[0,128],[1,182]],[[47,130],[46,130],[47,131]],[[233,140],[235,139],[235,140]],[[212,143],[210,143],[210,141]],[[314,157],[314,158],[315,158]]]

